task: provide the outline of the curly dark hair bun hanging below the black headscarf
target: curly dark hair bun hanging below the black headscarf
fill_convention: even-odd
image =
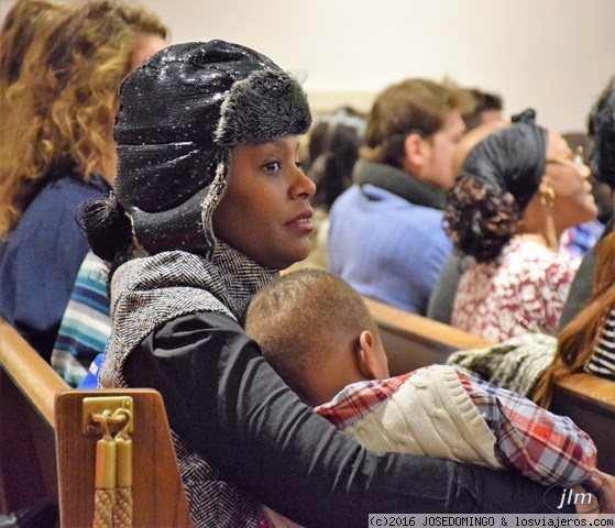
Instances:
[[[447,202],[444,231],[458,252],[477,262],[493,261],[516,232],[520,211],[510,193],[461,175]]]

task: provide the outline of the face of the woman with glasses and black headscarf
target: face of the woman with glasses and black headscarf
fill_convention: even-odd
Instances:
[[[573,160],[565,140],[550,131],[542,185],[556,193],[552,213],[560,227],[565,229],[596,217],[597,207],[587,180],[590,174],[590,167]]]

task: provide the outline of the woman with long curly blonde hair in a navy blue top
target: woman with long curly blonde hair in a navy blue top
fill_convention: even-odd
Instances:
[[[21,0],[15,6],[20,7]],[[0,316],[50,359],[88,243],[76,207],[111,189],[120,81],[166,44],[135,2],[65,3],[40,24],[6,88],[0,130]]]

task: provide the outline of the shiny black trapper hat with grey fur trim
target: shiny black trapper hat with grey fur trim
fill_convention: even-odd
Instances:
[[[223,41],[166,47],[127,77],[119,97],[116,197],[152,254],[211,252],[230,148],[303,134],[311,122],[292,76]]]

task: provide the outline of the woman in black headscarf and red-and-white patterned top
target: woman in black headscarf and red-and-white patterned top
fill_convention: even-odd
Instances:
[[[455,250],[473,257],[458,285],[452,326],[494,341],[556,333],[579,266],[559,240],[596,216],[589,175],[532,111],[470,151],[444,211]]]

